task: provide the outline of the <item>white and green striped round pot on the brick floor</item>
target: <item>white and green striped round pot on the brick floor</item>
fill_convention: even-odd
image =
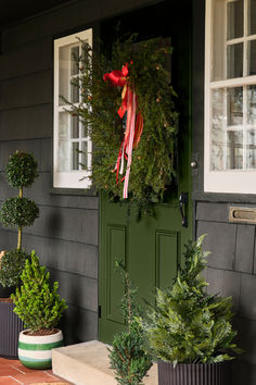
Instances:
[[[49,369],[52,365],[52,349],[63,346],[62,331],[46,336],[29,336],[20,333],[18,359],[29,369]]]

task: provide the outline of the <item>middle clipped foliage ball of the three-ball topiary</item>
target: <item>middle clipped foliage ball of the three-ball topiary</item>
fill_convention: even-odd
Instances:
[[[31,226],[38,216],[38,207],[28,198],[9,198],[3,202],[0,211],[0,220],[5,227]]]

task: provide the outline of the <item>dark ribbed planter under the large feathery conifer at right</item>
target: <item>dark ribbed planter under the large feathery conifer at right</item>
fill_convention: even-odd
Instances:
[[[158,361],[158,385],[230,385],[230,362],[187,364]]]

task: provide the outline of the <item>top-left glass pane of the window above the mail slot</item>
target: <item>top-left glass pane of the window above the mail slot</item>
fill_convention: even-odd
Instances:
[[[227,38],[242,37],[244,20],[244,0],[234,0],[227,3]]]

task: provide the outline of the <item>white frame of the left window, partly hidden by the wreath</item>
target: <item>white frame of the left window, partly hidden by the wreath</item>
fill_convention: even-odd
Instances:
[[[60,84],[59,84],[59,53],[60,48],[72,44],[77,44],[78,39],[87,41],[92,47],[92,29],[87,29],[77,34],[73,34],[54,40],[54,134],[53,134],[53,187],[54,188],[82,188],[88,189],[91,186],[91,164],[92,164],[92,142],[87,138],[88,147],[88,167],[87,170],[71,170],[67,172],[59,171],[59,113],[71,110],[68,104],[60,105]],[[69,86],[69,84],[68,84]],[[79,124],[80,125],[80,124]],[[69,124],[71,126],[71,124]],[[81,129],[81,128],[80,128]],[[71,131],[71,129],[69,129]],[[81,141],[82,139],[69,139],[73,141]]]

